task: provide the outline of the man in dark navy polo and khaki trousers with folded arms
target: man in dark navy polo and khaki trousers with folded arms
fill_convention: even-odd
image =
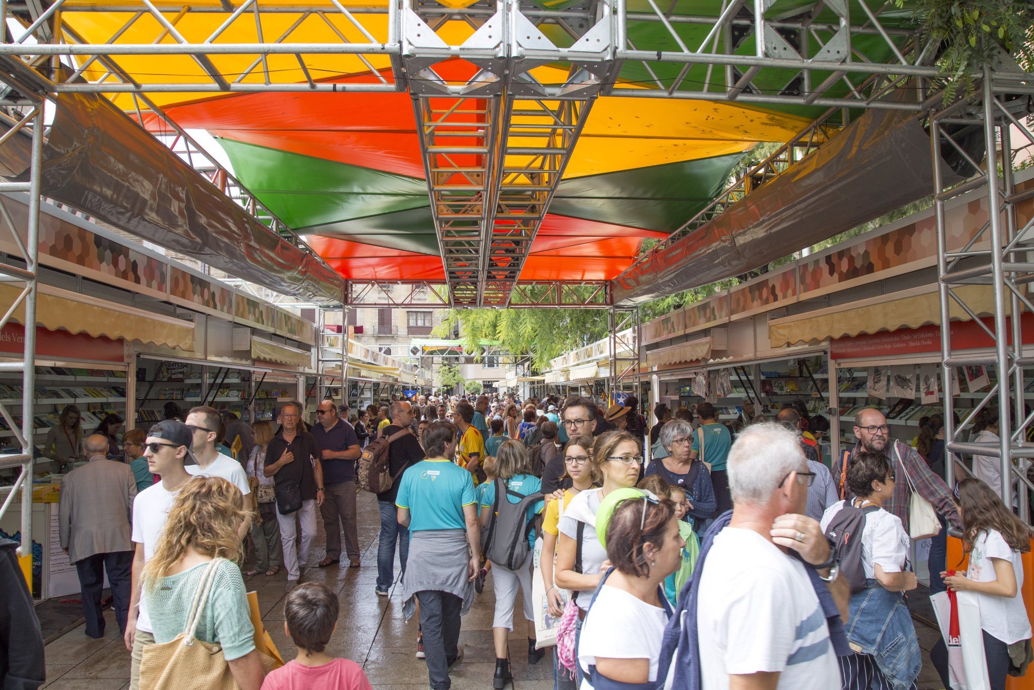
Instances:
[[[341,560],[341,529],[344,528],[344,547],[348,567],[359,567],[359,533],[356,522],[356,460],[362,450],[352,424],[337,416],[334,400],[323,400],[316,406],[316,419],[312,438],[320,449],[324,469],[324,486],[327,500],[320,507],[324,530],[327,532],[327,557],[317,565],[321,568]]]

